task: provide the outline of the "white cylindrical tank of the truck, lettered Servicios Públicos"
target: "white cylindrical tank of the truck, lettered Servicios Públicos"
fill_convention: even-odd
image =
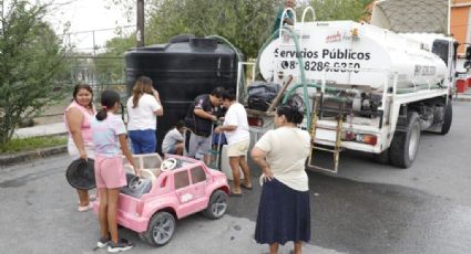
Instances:
[[[318,82],[325,77],[335,86],[391,87],[395,74],[398,88],[437,85],[448,77],[446,63],[430,46],[411,38],[352,21],[296,23],[299,53],[286,31],[269,43],[259,56],[265,80],[284,75]],[[299,39],[303,36],[303,39]],[[298,63],[297,56],[303,59]],[[301,65],[301,66],[299,66]]]

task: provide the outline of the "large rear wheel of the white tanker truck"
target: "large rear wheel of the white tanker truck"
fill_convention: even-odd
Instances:
[[[409,168],[417,156],[420,141],[419,114],[411,112],[407,117],[407,131],[396,131],[389,148],[391,163],[399,168]]]

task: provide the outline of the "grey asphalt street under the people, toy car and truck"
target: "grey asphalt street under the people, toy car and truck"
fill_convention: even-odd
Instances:
[[[447,136],[422,134],[409,169],[347,151],[338,176],[309,172],[313,237],[305,253],[470,253],[471,103],[457,102],[453,110]],[[93,251],[96,216],[75,211],[76,194],[64,178],[69,163],[62,155],[0,167],[2,253],[105,253]],[[256,181],[258,170],[253,174]],[[253,240],[258,199],[256,187],[231,198],[221,220],[194,214],[178,221],[163,247],[121,233],[136,244],[133,253],[267,253]]]

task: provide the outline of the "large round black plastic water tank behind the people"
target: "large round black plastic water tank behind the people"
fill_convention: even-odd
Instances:
[[[178,35],[167,44],[132,49],[125,53],[127,94],[135,80],[152,78],[164,106],[157,118],[157,151],[165,134],[183,120],[190,103],[216,86],[236,87],[237,57],[225,44],[213,39]]]

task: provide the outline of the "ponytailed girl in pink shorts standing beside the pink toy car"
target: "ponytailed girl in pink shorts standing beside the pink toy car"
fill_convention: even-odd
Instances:
[[[133,157],[127,148],[126,129],[123,120],[116,115],[120,95],[114,91],[105,91],[101,95],[102,108],[92,119],[92,138],[95,148],[95,179],[99,189],[99,221],[101,239],[98,247],[107,246],[107,252],[127,251],[133,243],[117,235],[117,199],[120,188],[126,184],[122,154],[126,157],[139,176]]]

